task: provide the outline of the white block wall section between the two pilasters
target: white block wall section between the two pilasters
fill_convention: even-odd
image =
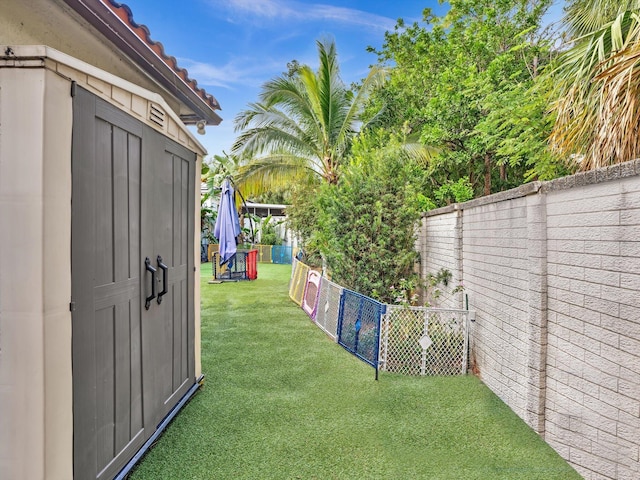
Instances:
[[[526,197],[464,210],[463,272],[471,359],[482,380],[518,415],[527,410]]]

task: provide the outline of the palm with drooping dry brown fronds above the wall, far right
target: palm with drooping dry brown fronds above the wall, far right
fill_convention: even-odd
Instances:
[[[574,0],[573,47],[553,75],[551,146],[590,170],[640,156],[640,0]]]

